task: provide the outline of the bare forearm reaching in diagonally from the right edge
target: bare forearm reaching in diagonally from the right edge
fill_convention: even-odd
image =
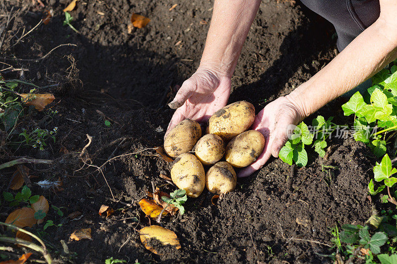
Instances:
[[[372,77],[397,57],[396,27],[378,19],[288,97],[308,116]]]

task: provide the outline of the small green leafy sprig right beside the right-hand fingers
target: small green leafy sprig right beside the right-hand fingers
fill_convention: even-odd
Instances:
[[[298,166],[305,166],[307,164],[307,152],[305,145],[310,145],[313,142],[314,135],[310,133],[307,125],[301,122],[293,131],[290,139],[281,148],[279,157],[285,163],[292,165],[292,162]]]

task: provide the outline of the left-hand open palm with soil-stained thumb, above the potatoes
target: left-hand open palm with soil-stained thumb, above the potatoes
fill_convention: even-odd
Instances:
[[[192,77],[182,84],[174,100],[168,104],[177,110],[172,116],[165,135],[187,118],[206,122],[214,112],[226,106],[230,89],[230,77],[200,66]]]

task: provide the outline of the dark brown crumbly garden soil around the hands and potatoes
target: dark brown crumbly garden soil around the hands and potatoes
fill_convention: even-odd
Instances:
[[[376,159],[364,144],[331,139],[326,158],[309,151],[309,164],[303,168],[272,158],[259,172],[239,180],[237,189],[217,206],[211,204],[207,191],[189,199],[184,215],[161,221],[177,234],[182,248],[168,246],[159,250],[161,255],[150,253],[136,230],[155,222],[145,217],[137,201],[152,190],[151,181],[156,186],[167,183],[159,174],[167,173],[170,164],[154,156],[153,150],[142,150],[162,145],[173,113],[167,103],[177,85],[199,65],[213,1],[179,1],[169,11],[173,2],[165,0],[80,0],[70,12],[79,34],[62,25],[62,10],[69,0],[43,2],[45,8],[31,1],[1,1],[1,25],[7,19],[6,10],[13,7],[12,14],[18,12],[3,33],[1,61],[28,69],[23,76],[20,71],[3,71],[2,75],[39,86],[60,83],[40,91],[55,94],[51,106],[59,113],[48,118],[46,111],[31,109],[15,130],[18,135],[22,128],[58,127],[57,140],[45,151],[21,147],[12,154],[2,153],[1,161],[10,160],[10,155],[56,160],[53,167],[28,166],[38,176],[33,182],[60,177],[64,184],[64,190],[55,193],[32,187],[33,194],[44,195],[64,211],[61,217],[50,209],[47,219],[63,225],[49,227],[43,236],[58,261],[104,263],[114,257],[129,263],[328,263],[330,259],[319,254],[334,250],[327,246],[332,245],[330,228],[363,224],[371,215],[367,184]],[[29,31],[51,8],[51,22],[18,42],[22,29]],[[151,22],[128,33],[133,12]],[[232,78],[229,102],[247,100],[258,112],[266,102],[289,93],[336,54],[333,33],[329,23],[299,4],[263,1]],[[38,59],[67,43],[77,46],[63,46]],[[31,89],[21,87],[20,91]],[[319,113],[335,116],[335,123],[351,122],[335,109],[341,109],[340,102],[332,102]],[[97,110],[111,121],[110,127]],[[93,141],[79,158],[87,134]],[[112,153],[135,152],[139,153],[107,163],[103,175],[93,167]],[[1,171],[2,190],[7,189],[12,170]],[[118,202],[110,201],[110,189]],[[161,189],[174,190],[170,185]],[[100,216],[102,204],[115,209],[114,215]],[[2,204],[1,221],[14,209]],[[82,217],[70,220],[67,215],[74,211]],[[36,225],[33,231],[42,226]],[[71,240],[70,234],[80,228],[91,228],[92,239]]]

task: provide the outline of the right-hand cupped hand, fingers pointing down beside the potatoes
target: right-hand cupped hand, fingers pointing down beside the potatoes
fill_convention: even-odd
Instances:
[[[290,125],[297,125],[304,118],[299,107],[288,96],[280,97],[265,106],[258,113],[251,129],[258,130],[265,136],[265,148],[257,160],[238,172],[238,177],[250,176],[265,165],[271,157],[278,157],[280,149],[288,140]]]

